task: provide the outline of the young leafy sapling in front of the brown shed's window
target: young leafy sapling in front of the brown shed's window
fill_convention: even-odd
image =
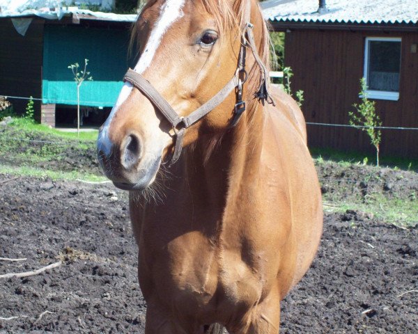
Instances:
[[[360,79],[360,88],[362,103],[353,104],[356,111],[350,111],[348,113],[348,116],[350,116],[350,125],[355,126],[357,129],[362,129],[362,131],[365,131],[369,135],[371,144],[376,148],[376,166],[379,166],[379,150],[382,133],[376,127],[380,127],[382,122],[376,113],[376,102],[370,101],[367,98],[366,90],[368,87],[366,79]]]

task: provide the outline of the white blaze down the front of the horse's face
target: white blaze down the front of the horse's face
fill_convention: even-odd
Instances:
[[[177,19],[183,16],[183,6],[185,0],[167,0],[161,7],[160,10],[160,17],[157,19],[153,30],[150,33],[150,38],[146,43],[146,47],[144,52],[141,54],[137,65],[134,67],[134,71],[142,74],[147,67],[153,62],[153,58],[155,56],[155,52],[157,51],[158,47],[160,46],[160,42],[167,32],[171,24],[176,22]],[[114,118],[116,111],[118,111],[119,107],[126,101],[127,97],[132,92],[132,84],[126,82],[121,90],[121,93],[118,96],[118,100],[114,105],[113,109],[111,109],[111,113],[107,118],[106,122],[104,122],[102,131],[100,132],[100,136],[98,141],[100,142],[100,149],[103,150],[106,154],[110,152],[111,143],[109,143],[109,125],[111,120]]]

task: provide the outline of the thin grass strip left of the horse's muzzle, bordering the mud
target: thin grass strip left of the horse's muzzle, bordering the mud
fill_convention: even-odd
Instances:
[[[77,170],[65,172],[60,170],[47,170],[30,166],[9,166],[0,164],[0,174],[29,177],[49,177],[52,180],[82,180],[86,182],[104,182],[107,178],[91,173],[82,173]]]

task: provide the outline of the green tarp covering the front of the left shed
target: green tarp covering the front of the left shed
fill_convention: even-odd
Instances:
[[[42,70],[44,104],[77,104],[77,85],[68,66],[79,63],[93,81],[80,88],[82,106],[113,106],[128,66],[129,32],[119,29],[46,25]]]

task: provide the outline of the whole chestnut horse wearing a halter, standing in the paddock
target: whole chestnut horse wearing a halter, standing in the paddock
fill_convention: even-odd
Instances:
[[[130,194],[145,333],[278,333],[323,211],[302,112],[269,85],[258,1],[149,0],[132,43],[97,147]]]

